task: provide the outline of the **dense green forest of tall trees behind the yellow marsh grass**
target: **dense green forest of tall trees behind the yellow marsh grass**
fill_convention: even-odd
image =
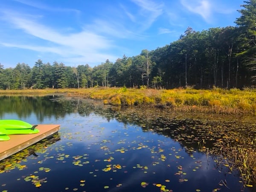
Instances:
[[[0,89],[151,87],[242,88],[256,84],[256,0],[244,1],[236,26],[196,32],[188,27],[177,41],[140,55],[108,59],[98,66],[65,66],[56,61],[34,67],[0,64]]]

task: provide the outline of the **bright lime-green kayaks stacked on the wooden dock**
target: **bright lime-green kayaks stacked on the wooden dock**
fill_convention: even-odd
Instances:
[[[31,125],[27,122],[15,119],[0,120],[0,141],[9,140],[8,135],[14,134],[36,134],[39,132],[36,129],[37,125]]]

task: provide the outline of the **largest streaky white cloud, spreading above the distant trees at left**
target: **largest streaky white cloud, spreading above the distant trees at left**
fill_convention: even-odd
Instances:
[[[12,13],[5,11],[4,17],[12,28],[20,29],[27,35],[32,35],[35,38],[44,40],[46,45],[38,46],[34,42],[27,42],[27,44],[13,43],[11,39],[1,40],[2,46],[16,47],[21,49],[29,49],[37,52],[51,52],[58,54],[65,60],[72,59],[75,61],[105,61],[108,59],[115,59],[116,55],[107,54],[108,49],[114,48],[113,42],[104,36],[97,35],[86,29],[76,32],[63,34],[57,29],[52,29],[49,26],[41,24],[38,20],[31,18],[29,15],[22,15],[19,13]],[[15,39],[17,41],[17,39]],[[47,43],[49,42],[49,43]],[[53,45],[53,46],[49,46]],[[104,52],[103,52],[104,50]]]

